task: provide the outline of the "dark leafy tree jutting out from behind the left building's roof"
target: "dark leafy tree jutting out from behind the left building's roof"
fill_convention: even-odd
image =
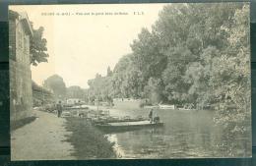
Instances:
[[[46,53],[47,40],[42,37],[44,28],[37,29],[32,28],[32,40],[31,40],[31,64],[37,66],[41,62],[48,62],[49,55]]]

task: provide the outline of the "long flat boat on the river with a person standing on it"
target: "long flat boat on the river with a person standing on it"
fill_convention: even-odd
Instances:
[[[127,122],[112,122],[96,124],[97,129],[106,133],[126,132],[145,128],[163,127],[162,122],[151,122],[149,120],[143,121],[127,121]]]

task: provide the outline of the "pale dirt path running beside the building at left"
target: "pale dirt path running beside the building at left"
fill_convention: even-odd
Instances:
[[[38,117],[11,133],[12,160],[70,160],[74,147],[65,141],[70,132],[64,125],[66,120],[56,115],[35,111]]]

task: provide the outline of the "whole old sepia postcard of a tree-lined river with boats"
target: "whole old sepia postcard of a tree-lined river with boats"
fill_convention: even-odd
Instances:
[[[251,157],[249,9],[10,5],[11,160]]]

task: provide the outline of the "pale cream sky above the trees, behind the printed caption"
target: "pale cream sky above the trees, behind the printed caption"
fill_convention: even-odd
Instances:
[[[66,86],[87,88],[88,80],[94,79],[96,73],[105,76],[108,66],[112,70],[122,56],[132,52],[130,44],[141,28],[151,29],[164,5],[16,5],[9,8],[27,12],[34,28],[44,28],[48,63],[32,66],[32,80],[41,85],[57,74]],[[58,13],[66,15],[58,16]]]

